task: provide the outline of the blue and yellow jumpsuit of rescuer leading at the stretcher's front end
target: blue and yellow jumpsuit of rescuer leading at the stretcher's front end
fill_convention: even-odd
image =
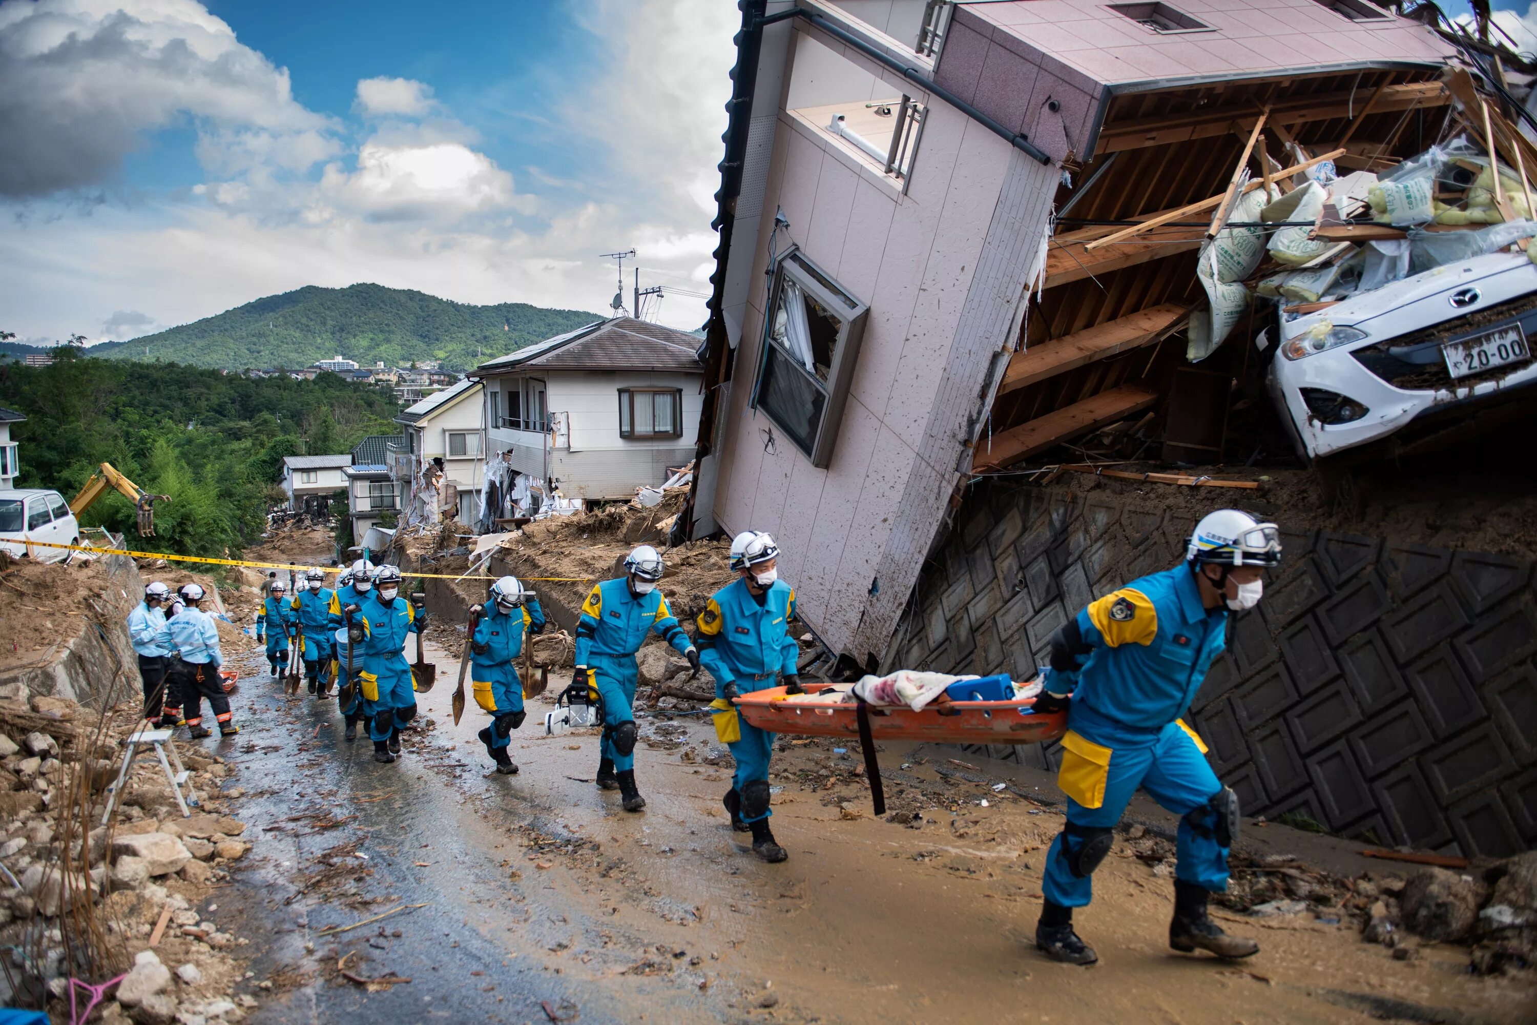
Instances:
[[[1084,839],[1074,827],[1114,827],[1137,787],[1183,816],[1174,876],[1227,888],[1228,848],[1202,813],[1222,784],[1203,758],[1207,745],[1180,719],[1227,647],[1227,621],[1225,609],[1202,605],[1183,564],[1131,581],[1077,613],[1091,649],[1087,661],[1081,656],[1076,672],[1050,668],[1045,678],[1048,692],[1073,692],[1057,771],[1068,827],[1047,853],[1048,901],[1070,908],[1090,902],[1090,876],[1071,871],[1064,844],[1076,854]]]

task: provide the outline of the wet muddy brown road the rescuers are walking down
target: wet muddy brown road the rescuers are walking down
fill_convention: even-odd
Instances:
[[[1531,1020],[1534,993],[1468,976],[1466,951],[1394,960],[1348,919],[1217,911],[1262,953],[1174,954],[1167,867],[1124,838],[1077,916],[1100,964],[1057,965],[1031,942],[1061,816],[1022,794],[1045,779],[893,745],[888,802],[911,821],[878,821],[858,750],[781,738],[773,825],[790,861],[765,865],[727,825],[730,761],[702,716],[641,721],[649,805],[626,814],[590,782],[596,731],[541,736],[543,698],[513,735],[521,771],[492,773],[475,739],[489,716],[472,699],[452,724],[456,652],[427,653],[438,685],[397,764],[344,742],[334,701],[284,696],[260,655],[240,667],[243,731],[203,742],[238,767],[224,790],[243,791],[258,839],[218,894],[252,937],[258,1025]]]

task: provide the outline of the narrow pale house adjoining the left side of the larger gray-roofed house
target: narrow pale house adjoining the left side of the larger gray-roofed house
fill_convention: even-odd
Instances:
[[[433,392],[415,406],[395,416],[403,424],[406,444],[389,452],[392,479],[403,489],[403,503],[409,504],[415,484],[433,459],[443,461],[443,479],[452,484],[456,498],[447,515],[460,522],[480,519],[480,490],[484,470],[481,443],[484,441],[486,409],[484,386],[480,381],[460,381],[453,387]],[[444,501],[444,489],[438,492]]]

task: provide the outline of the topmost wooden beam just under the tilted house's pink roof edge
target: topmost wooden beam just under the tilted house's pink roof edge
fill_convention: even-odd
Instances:
[[[1371,114],[1406,111],[1414,106],[1439,106],[1449,101],[1440,81],[1409,81],[1397,86],[1385,86],[1380,89],[1380,95],[1374,98],[1376,103],[1371,106]],[[1331,121],[1349,117],[1349,114],[1351,94],[1346,89],[1342,92],[1280,100],[1273,104],[1270,123],[1303,124],[1306,121]],[[1100,129],[1099,144],[1094,152],[1111,154],[1122,149],[1213,138],[1216,135],[1227,135],[1234,129],[1248,132],[1257,118],[1259,111],[1253,104],[1233,104],[1171,117],[1164,115],[1111,123]],[[1365,118],[1365,114],[1357,121],[1362,118]]]

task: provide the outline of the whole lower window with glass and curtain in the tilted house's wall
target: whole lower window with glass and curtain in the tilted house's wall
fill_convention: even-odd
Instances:
[[[868,309],[799,252],[775,267],[753,407],[812,466],[832,463]]]

